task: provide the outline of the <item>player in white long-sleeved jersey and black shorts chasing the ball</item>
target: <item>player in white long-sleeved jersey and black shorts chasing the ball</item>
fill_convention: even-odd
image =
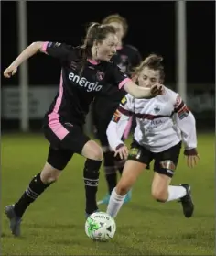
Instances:
[[[135,78],[140,87],[151,88],[155,83],[163,83],[161,61],[161,57],[153,54],[136,68]],[[120,135],[124,123],[132,114],[135,114],[137,125],[128,152]],[[127,158],[123,175],[113,189],[108,214],[116,217],[126,193],[146,165],[155,160],[153,197],[159,202],[179,200],[185,217],[192,216],[194,205],[189,184],[170,185],[178,164],[181,142],[185,144],[184,154],[189,167],[194,167],[199,160],[195,119],[178,94],[165,87],[164,95],[151,99],[135,99],[132,95],[126,95],[107,128],[107,136],[115,155],[120,155],[121,159]]]

